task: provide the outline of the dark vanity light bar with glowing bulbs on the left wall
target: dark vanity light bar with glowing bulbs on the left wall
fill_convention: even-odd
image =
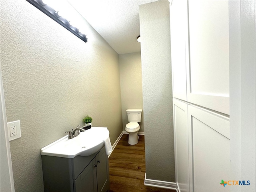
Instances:
[[[42,11],[44,14],[52,18],[54,21],[56,21],[58,24],[62,25],[64,28],[72,32],[75,36],[82,39],[84,42],[87,42],[87,38],[85,34],[82,34],[78,31],[78,29],[74,26],[69,25],[69,21],[66,20],[63,17],[58,16],[56,14],[58,10],[54,10],[50,6],[44,4],[42,0],[26,0],[30,4],[34,5],[36,8],[38,8],[40,11]]]

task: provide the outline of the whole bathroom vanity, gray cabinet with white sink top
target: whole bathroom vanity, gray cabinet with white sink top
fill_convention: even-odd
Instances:
[[[41,149],[45,192],[109,192],[107,128],[92,127]]]

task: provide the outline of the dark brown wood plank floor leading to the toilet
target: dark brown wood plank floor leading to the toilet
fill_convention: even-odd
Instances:
[[[144,185],[146,172],[144,135],[136,145],[128,144],[124,134],[108,158],[110,192],[176,192],[176,190]]]

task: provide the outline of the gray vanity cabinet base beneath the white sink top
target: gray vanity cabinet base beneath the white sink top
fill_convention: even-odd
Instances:
[[[105,146],[83,157],[42,155],[45,192],[108,192],[109,172]]]

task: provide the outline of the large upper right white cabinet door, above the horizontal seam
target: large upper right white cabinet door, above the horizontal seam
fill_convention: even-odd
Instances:
[[[228,2],[188,1],[188,102],[224,114],[229,114]]]

